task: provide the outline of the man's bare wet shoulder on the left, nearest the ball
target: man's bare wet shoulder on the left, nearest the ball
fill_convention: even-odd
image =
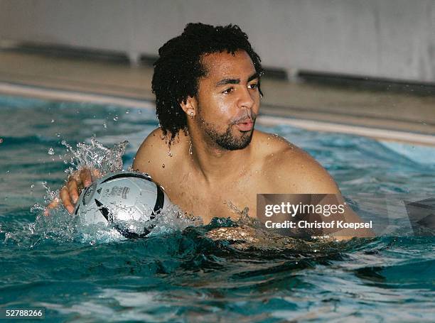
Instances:
[[[157,182],[160,182],[165,171],[176,163],[176,156],[180,150],[180,138],[176,137],[171,147],[168,145],[168,136],[164,136],[161,128],[156,128],[147,136],[133,162],[133,169],[148,173]]]

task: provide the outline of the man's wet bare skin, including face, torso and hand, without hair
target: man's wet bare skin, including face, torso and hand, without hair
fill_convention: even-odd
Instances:
[[[331,175],[308,153],[283,138],[254,130],[259,112],[258,75],[245,51],[213,53],[202,59],[207,75],[198,94],[181,103],[188,135],[179,131],[170,148],[161,128],[141,144],[133,168],[151,177],[184,212],[208,223],[213,217],[237,217],[249,207],[256,217],[257,193],[338,194]],[[61,192],[72,212],[77,188],[90,184],[88,170],[77,173]],[[361,221],[346,210],[347,221]],[[345,229],[339,239],[372,236],[367,229]]]

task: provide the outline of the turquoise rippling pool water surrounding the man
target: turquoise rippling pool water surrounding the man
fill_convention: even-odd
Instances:
[[[286,249],[205,238],[231,221],[149,239],[84,239],[66,214],[31,212],[45,203],[43,182],[63,185],[61,141],[128,140],[127,168],[157,126],[154,113],[0,97],[0,115],[1,307],[44,307],[49,322],[435,321],[435,239],[409,230]],[[434,193],[435,162],[412,146],[404,154],[358,136],[258,128],[311,153],[362,217],[394,218],[381,196]]]

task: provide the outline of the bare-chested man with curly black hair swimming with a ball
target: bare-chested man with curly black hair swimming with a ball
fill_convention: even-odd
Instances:
[[[257,193],[340,197],[331,175],[308,153],[254,130],[263,70],[238,26],[189,23],[159,49],[154,66],[160,127],[141,144],[133,168],[149,173],[184,212],[208,223],[213,217],[234,218],[235,208],[248,207],[256,217]],[[90,183],[90,170],[70,177],[60,192],[68,212],[79,188]],[[350,209],[345,220],[361,221]],[[372,232],[343,229],[333,236]]]

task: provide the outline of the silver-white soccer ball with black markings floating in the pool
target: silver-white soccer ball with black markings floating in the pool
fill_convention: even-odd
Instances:
[[[104,175],[83,190],[74,214],[83,224],[109,224],[123,236],[136,238],[149,234],[151,220],[171,206],[149,175],[121,171]]]

